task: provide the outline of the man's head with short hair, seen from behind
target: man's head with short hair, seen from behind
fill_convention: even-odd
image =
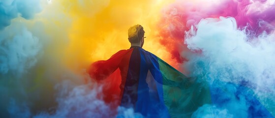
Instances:
[[[128,40],[131,45],[140,45],[144,44],[144,33],[143,27],[141,25],[134,25],[128,29]]]

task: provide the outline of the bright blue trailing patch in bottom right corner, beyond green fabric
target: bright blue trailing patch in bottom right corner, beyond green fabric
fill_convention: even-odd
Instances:
[[[274,118],[257,100],[251,89],[243,85],[214,81],[211,85],[212,103],[239,118]]]

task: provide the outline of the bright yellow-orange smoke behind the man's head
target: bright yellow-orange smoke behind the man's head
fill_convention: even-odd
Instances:
[[[66,64],[85,67],[128,49],[127,31],[136,24],[146,32],[144,49],[160,58],[169,57],[155,35],[159,33],[156,23],[161,9],[170,2],[173,0],[63,0],[62,5],[72,17]]]

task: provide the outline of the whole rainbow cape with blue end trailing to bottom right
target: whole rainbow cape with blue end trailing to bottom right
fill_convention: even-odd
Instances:
[[[252,108],[246,111],[247,117],[272,118],[270,112],[255,97],[251,97],[253,93],[247,92],[249,88],[231,83],[210,86],[208,82],[198,82],[198,77],[186,77],[140,47],[132,46],[108,60],[96,61],[88,73],[103,85],[106,103],[113,104],[114,109],[118,106],[133,108],[135,113],[148,118],[190,118],[202,106],[228,104],[230,99],[238,99],[240,94],[249,98],[247,102],[252,104]],[[220,82],[213,84],[221,85]],[[228,86],[240,89],[228,93]],[[229,96],[219,98],[220,94]],[[212,109],[208,110],[213,113]]]

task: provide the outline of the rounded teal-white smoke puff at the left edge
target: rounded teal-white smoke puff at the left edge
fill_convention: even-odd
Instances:
[[[39,39],[23,25],[0,31],[0,74],[26,72],[37,62],[41,47]]]

